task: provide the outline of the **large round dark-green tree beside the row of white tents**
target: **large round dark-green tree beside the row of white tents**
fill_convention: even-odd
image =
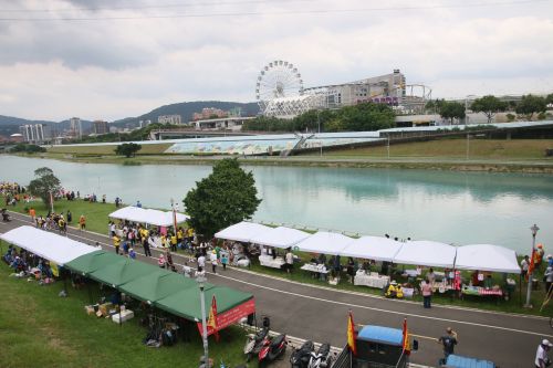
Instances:
[[[251,219],[261,200],[251,172],[237,159],[226,158],[207,178],[196,182],[184,199],[190,224],[206,238],[231,224]]]

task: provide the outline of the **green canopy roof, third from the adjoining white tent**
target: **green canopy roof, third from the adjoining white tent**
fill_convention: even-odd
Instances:
[[[187,288],[197,291],[196,282],[175,272],[156,271],[119,286],[119,290],[139,301],[154,303]]]

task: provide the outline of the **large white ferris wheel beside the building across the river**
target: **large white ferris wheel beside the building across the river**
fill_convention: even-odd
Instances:
[[[261,109],[268,102],[303,94],[302,75],[294,64],[283,60],[275,60],[267,64],[258,75],[255,83],[255,98]]]

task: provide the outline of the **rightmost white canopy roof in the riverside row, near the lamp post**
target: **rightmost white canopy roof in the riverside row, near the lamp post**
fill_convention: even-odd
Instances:
[[[457,249],[455,267],[490,272],[521,273],[517,252],[491,244],[471,244]]]

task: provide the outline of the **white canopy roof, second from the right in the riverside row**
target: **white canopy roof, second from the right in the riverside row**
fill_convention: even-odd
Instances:
[[[449,244],[427,240],[411,241],[403,243],[394,263],[452,269],[455,256],[456,248]]]

